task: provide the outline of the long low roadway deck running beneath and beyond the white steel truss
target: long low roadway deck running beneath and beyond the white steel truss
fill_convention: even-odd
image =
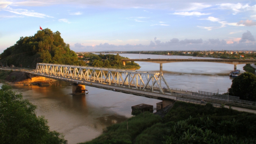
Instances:
[[[92,67],[90,67],[92,68]],[[10,69],[3,69],[3,70],[10,70]],[[32,69],[19,69],[15,68],[16,71],[26,72],[35,76],[41,76],[41,77],[47,77],[51,79],[57,79],[61,81],[67,81],[72,83],[78,83],[86,86],[96,87],[96,88],[103,88],[106,90],[113,90],[121,93],[127,93],[132,95],[138,95],[148,98],[154,98],[159,100],[177,100],[177,101],[185,101],[185,102],[192,102],[201,104],[201,100],[204,99],[205,102],[210,102],[214,106],[221,106],[221,104],[226,105],[233,105],[233,106],[242,106],[242,107],[253,107],[254,102],[250,101],[241,101],[238,97],[232,97],[232,96],[226,96],[226,95],[214,95],[209,94],[207,92],[200,92],[197,93],[195,91],[188,91],[188,90],[181,90],[181,89],[174,89],[174,88],[162,88],[163,93],[161,92],[161,87],[157,87],[153,85],[145,86],[145,89],[138,89],[138,86],[136,87],[134,84],[130,85],[122,85],[118,86],[117,83],[112,81],[111,83],[100,83],[102,79],[99,79],[99,81],[95,81],[93,78],[90,79],[78,79],[78,78],[72,78],[72,77],[62,77],[60,76],[60,73],[44,73],[44,72],[37,72],[38,70],[32,70]],[[127,76],[126,76],[127,77]],[[125,81],[123,81],[125,83]],[[129,81],[130,83],[130,81]],[[153,82],[152,82],[153,83]],[[138,83],[137,83],[138,84]],[[168,86],[168,85],[167,85]]]

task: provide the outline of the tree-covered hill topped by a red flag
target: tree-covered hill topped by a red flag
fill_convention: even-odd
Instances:
[[[0,55],[1,65],[35,68],[36,63],[85,65],[61,38],[61,33],[50,29],[38,31],[34,36],[21,37],[15,45]]]

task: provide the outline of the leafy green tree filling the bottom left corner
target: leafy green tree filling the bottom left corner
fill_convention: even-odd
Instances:
[[[0,90],[0,143],[2,144],[65,144],[56,131],[50,131],[47,120],[37,117],[36,106],[22,99],[10,87]]]

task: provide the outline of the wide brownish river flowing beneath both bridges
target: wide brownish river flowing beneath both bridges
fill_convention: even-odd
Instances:
[[[120,54],[128,58],[195,58],[192,56],[162,56]],[[199,58],[199,57],[198,57]],[[141,70],[159,71],[157,63],[138,62]],[[244,65],[237,65],[243,70]],[[232,84],[227,74],[234,65],[223,63],[164,63],[163,73],[172,88],[225,93]],[[2,85],[2,84],[1,84]],[[156,108],[160,100],[129,95],[86,86],[88,95],[72,96],[71,83],[56,81],[50,86],[13,86],[24,99],[38,106],[37,115],[44,115],[51,130],[65,135],[69,144],[89,141],[102,129],[131,117],[131,106],[150,104]]]

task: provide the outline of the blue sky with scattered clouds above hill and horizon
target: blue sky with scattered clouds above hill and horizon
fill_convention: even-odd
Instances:
[[[39,26],[76,52],[256,50],[256,0],[0,0],[0,53]]]

